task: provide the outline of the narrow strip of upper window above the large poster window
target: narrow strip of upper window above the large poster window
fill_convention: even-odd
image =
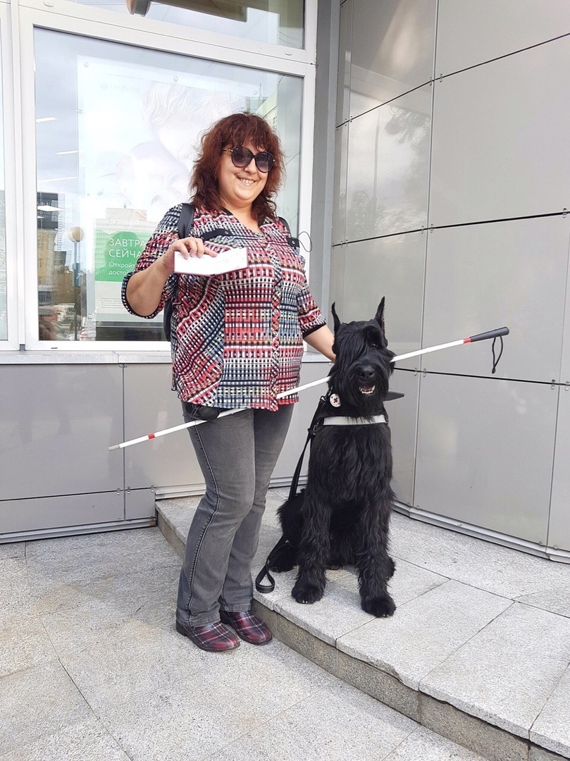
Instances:
[[[291,48],[304,44],[304,0],[75,0],[181,27]]]

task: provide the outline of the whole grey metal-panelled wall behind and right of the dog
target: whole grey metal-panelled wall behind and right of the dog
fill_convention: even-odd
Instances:
[[[570,216],[524,218],[570,209],[564,97],[570,38],[562,39],[570,32],[570,5],[438,0],[424,223],[417,213],[423,169],[410,150],[415,139],[393,150],[390,135],[398,136],[406,113],[412,127],[418,126],[413,119],[424,116],[429,128],[427,88],[419,108],[389,103],[390,118],[378,104],[397,95],[400,83],[421,84],[409,72],[421,60],[424,68],[415,71],[428,70],[425,45],[433,26],[424,18],[418,37],[414,13],[430,7],[421,0],[342,4],[351,40],[341,60],[350,59],[351,93],[347,115],[345,69],[336,117],[337,123],[350,121],[337,131],[333,241],[342,245],[331,256],[331,296],[343,319],[361,319],[375,301],[380,274],[390,347],[398,353],[416,349],[420,339],[429,346],[510,327],[495,375],[490,342],[402,363],[427,368],[426,377],[396,368],[393,385],[406,397],[389,410],[394,485],[401,501],[413,500],[425,511],[536,543],[546,543],[552,488],[549,543],[568,549],[570,421],[564,394],[570,399],[570,391],[551,388],[551,381],[570,387]],[[418,49],[410,52],[406,42],[416,37]],[[408,74],[395,68],[400,54],[400,72],[407,67]],[[400,192],[406,178],[409,187]],[[515,221],[465,224],[502,218]],[[412,221],[435,228],[425,234],[423,292],[411,246],[395,260],[390,243],[359,242],[401,237]],[[437,229],[445,225],[454,229]]]

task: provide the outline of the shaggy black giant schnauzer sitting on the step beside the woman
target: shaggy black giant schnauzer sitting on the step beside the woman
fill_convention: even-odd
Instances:
[[[384,298],[368,322],[341,323],[333,304],[336,361],[322,425],[311,443],[307,486],[279,508],[287,540],[270,567],[298,565],[291,594],[298,603],[323,597],[326,568],[355,565],[362,608],[391,616],[387,591],[393,492],[392,450],[384,400],[393,352],[384,334]]]

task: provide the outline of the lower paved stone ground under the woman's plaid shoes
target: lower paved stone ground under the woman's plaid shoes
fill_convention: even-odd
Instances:
[[[0,761],[480,761],[282,642],[200,651],[179,568],[158,528],[0,545]]]

